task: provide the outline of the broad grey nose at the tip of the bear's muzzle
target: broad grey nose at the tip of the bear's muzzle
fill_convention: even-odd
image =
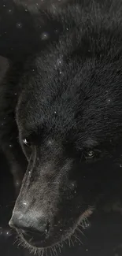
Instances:
[[[44,217],[36,219],[35,216],[20,212],[13,213],[9,226],[16,228],[17,232],[24,236],[24,239],[28,242],[31,240],[31,243],[35,246],[46,239],[50,229],[50,223]]]

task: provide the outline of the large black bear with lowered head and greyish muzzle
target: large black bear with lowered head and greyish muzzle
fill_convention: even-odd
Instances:
[[[24,173],[9,225],[38,253],[79,231],[108,169],[122,166],[122,0],[26,6],[34,34],[9,55],[0,144]]]

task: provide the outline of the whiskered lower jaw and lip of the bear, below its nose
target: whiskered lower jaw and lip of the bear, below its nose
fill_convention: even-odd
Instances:
[[[79,227],[79,225],[81,226],[81,223],[83,221],[86,221],[87,217],[91,216],[91,214],[93,213],[93,210],[94,210],[94,207],[89,207],[84,213],[81,214],[81,216],[75,222],[75,224],[73,224],[72,227],[68,228],[67,231],[63,232],[63,229],[62,229],[62,233],[61,232],[57,234],[52,233],[46,239],[42,239],[42,235],[39,235],[39,233],[33,236],[32,233],[28,234],[28,232],[17,231],[19,235],[20,244],[23,247],[27,247],[30,250],[30,252],[34,254],[36,253],[42,254],[42,252],[44,253],[45,250],[47,251],[47,249],[51,249],[53,247],[54,248],[62,247],[62,243],[67,239],[68,241],[70,240],[71,236],[74,234],[74,232]],[[80,232],[82,233],[81,230]]]

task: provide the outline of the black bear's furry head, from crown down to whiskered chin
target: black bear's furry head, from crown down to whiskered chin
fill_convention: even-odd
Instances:
[[[96,26],[91,15],[85,30],[81,22],[31,58],[18,85],[28,169],[9,224],[35,250],[61,243],[91,215],[121,145],[122,37],[102,20]]]

